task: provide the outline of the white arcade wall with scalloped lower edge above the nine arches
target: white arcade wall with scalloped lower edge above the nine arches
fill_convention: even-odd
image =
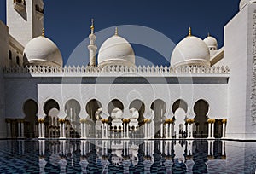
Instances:
[[[6,107],[8,118],[24,117],[22,105],[29,98],[38,101],[39,117],[44,117],[44,102],[49,99],[59,102],[60,117],[66,116],[64,112],[66,102],[70,99],[77,100],[82,108],[79,116],[83,118],[87,115],[85,105],[91,99],[101,102],[103,111],[106,113],[108,113],[108,103],[113,99],[123,102],[128,112],[131,102],[136,99],[144,102],[146,111],[149,110],[152,102],[160,99],[166,102],[168,116],[173,116],[173,103],[183,99],[188,103],[187,115],[192,119],[195,117],[195,102],[204,99],[209,103],[208,116],[211,119],[227,118],[227,84],[81,84],[81,82],[67,82],[61,78],[7,77],[5,89],[7,106],[12,106]]]

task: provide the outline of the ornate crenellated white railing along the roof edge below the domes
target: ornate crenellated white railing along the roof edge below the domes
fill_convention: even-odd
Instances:
[[[229,74],[229,67],[3,67],[3,73],[219,73]]]

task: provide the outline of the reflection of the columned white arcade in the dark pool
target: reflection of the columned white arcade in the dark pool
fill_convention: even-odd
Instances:
[[[50,172],[45,170],[49,161],[61,173],[207,173],[207,161],[226,159],[224,147],[225,142],[207,140],[39,140],[39,168],[40,173]]]

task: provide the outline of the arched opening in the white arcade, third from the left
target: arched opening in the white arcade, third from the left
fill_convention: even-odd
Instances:
[[[67,113],[67,135],[66,137],[80,137],[80,118],[79,113],[81,106],[78,101],[71,99],[65,104],[65,112]]]

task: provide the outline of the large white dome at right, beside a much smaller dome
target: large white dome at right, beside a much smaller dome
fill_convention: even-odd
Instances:
[[[210,66],[210,51],[207,44],[194,36],[184,38],[172,52],[171,65]]]

